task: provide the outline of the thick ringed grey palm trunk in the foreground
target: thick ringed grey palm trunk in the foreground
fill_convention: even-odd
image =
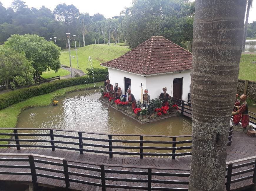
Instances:
[[[189,190],[224,190],[246,0],[196,0]]]

